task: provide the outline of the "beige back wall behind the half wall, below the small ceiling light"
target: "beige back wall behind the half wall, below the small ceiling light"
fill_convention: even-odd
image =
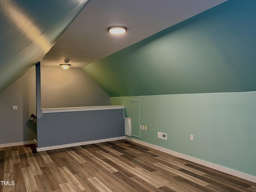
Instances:
[[[81,68],[41,66],[42,108],[110,105],[110,96]]]

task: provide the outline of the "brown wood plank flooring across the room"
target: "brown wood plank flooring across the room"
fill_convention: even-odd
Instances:
[[[256,192],[256,183],[128,140],[0,148],[0,192]],[[15,185],[11,185],[14,181]]]

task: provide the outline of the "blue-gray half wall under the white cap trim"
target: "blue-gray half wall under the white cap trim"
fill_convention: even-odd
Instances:
[[[43,114],[38,119],[38,147],[124,136],[123,109]]]

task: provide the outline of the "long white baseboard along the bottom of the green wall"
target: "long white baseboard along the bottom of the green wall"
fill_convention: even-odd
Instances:
[[[125,137],[125,139],[129,140],[129,141],[132,141],[132,142],[135,142],[135,143],[138,143],[138,144],[142,144],[144,146],[147,146],[147,147],[159,150],[159,151],[162,151],[162,152],[165,152],[165,153],[168,153],[168,154],[171,154],[173,156],[176,156],[176,157],[188,160],[188,161],[192,161],[194,163],[197,163],[197,164],[200,164],[200,165],[203,165],[203,166],[206,166],[206,167],[209,167],[209,168],[212,168],[212,169],[215,169],[215,170],[218,170],[218,171],[221,171],[221,172],[224,172],[224,173],[227,173],[227,174],[230,174],[230,175],[233,175],[233,176],[236,176],[236,177],[239,177],[239,178],[242,178],[242,179],[245,179],[245,180],[256,183],[256,177],[255,176],[248,175],[248,174],[245,174],[245,173],[242,173],[242,172],[238,172],[238,171],[235,171],[235,170],[232,170],[232,169],[229,169],[229,168],[226,168],[226,167],[222,167],[222,166],[219,166],[219,165],[216,165],[216,164],[213,164],[213,163],[209,163],[209,162],[206,162],[206,161],[194,158],[194,157],[190,157],[190,156],[187,156],[187,155],[184,155],[184,154],[172,151],[172,150],[168,150],[166,148],[162,148],[162,147],[159,147],[159,146],[156,146],[156,145],[153,145],[153,144],[149,144],[149,143],[146,143],[144,141],[140,141],[140,140],[137,140],[137,139],[134,139],[134,138],[130,138],[130,137],[127,137],[127,136]]]

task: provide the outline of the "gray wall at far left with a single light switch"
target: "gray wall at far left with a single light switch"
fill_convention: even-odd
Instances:
[[[0,144],[30,141],[36,138],[36,74],[33,67],[0,92]],[[18,110],[12,110],[17,105]]]

